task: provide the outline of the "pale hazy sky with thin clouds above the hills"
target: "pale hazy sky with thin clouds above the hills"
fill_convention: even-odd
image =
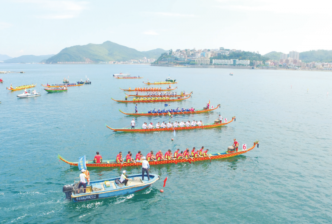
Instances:
[[[328,0],[0,0],[0,54],[57,54],[107,40],[146,51],[332,49]]]

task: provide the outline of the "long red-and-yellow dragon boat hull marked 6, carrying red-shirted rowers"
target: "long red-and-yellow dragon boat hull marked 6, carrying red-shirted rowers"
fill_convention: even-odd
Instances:
[[[247,148],[245,150],[238,150],[237,152],[230,152],[228,153],[227,151],[224,152],[211,152],[209,154],[207,154],[208,156],[206,157],[194,157],[194,158],[188,158],[188,159],[169,159],[169,160],[158,160],[158,161],[149,161],[150,166],[151,165],[160,165],[160,164],[170,164],[170,163],[191,163],[191,162],[196,162],[196,161],[205,161],[205,160],[212,160],[212,159],[225,159],[225,158],[229,158],[229,157],[233,157],[233,156],[238,156],[241,155],[243,153],[249,152],[250,150],[254,149],[257,145],[258,148],[258,143],[259,141],[256,140],[254,142],[254,145],[251,148]],[[65,159],[63,159],[60,155],[58,155],[58,159],[62,160],[65,163],[68,163],[70,166],[78,166],[78,162],[69,162]],[[102,163],[95,163],[94,161],[87,161],[86,162],[86,166],[87,167],[132,167],[132,166],[138,166],[141,165],[141,163],[117,163],[117,161],[114,160],[103,160]]]

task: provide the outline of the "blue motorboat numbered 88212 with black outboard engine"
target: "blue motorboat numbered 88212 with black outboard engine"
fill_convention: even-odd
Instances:
[[[71,199],[74,202],[96,200],[123,194],[131,194],[143,190],[159,180],[157,174],[150,174],[150,181],[147,180],[146,174],[144,180],[142,180],[142,174],[128,175],[127,178],[129,179],[127,186],[124,184],[117,184],[117,180],[120,180],[120,177],[90,181],[90,185],[86,186],[85,193],[83,188],[78,188],[80,179],[75,178],[74,184],[63,186],[62,192],[66,194],[66,198]]]

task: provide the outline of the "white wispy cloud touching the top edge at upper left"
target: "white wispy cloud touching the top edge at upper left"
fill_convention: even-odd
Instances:
[[[87,9],[89,2],[72,0],[19,0],[21,3],[35,4],[46,14],[36,15],[40,19],[72,19]]]

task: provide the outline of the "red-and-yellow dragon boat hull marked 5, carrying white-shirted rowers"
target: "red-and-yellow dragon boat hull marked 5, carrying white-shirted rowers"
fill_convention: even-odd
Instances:
[[[106,127],[110,128],[113,131],[125,131],[125,132],[152,132],[152,131],[179,131],[179,130],[189,130],[189,129],[204,129],[204,128],[212,128],[212,127],[220,127],[226,124],[229,124],[232,121],[235,121],[235,116],[228,122],[222,122],[222,120],[215,120],[214,123],[207,123],[202,126],[185,126],[185,127],[165,127],[165,128],[137,128],[137,129],[130,129],[130,128],[111,128],[105,124]]]

